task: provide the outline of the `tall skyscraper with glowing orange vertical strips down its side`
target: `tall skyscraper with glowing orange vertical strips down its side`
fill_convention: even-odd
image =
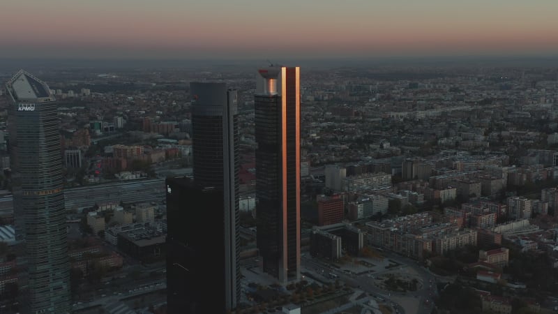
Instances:
[[[255,95],[257,248],[266,273],[300,279],[300,68],[260,69]]]

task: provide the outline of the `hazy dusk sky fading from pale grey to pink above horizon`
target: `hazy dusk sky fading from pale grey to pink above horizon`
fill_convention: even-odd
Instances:
[[[557,0],[1,0],[0,57],[558,54]]]

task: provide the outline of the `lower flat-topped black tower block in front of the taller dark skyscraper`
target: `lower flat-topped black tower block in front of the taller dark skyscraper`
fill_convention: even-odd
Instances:
[[[225,228],[216,225],[225,220],[223,191],[190,178],[169,178],[166,184],[167,313],[225,313],[229,301],[236,301],[229,300],[236,290],[228,283],[236,277],[227,265]],[[200,231],[204,223],[208,227]]]

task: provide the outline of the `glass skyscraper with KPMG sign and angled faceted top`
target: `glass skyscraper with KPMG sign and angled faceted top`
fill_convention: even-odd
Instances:
[[[28,269],[25,305],[29,313],[69,313],[70,264],[55,99],[47,84],[24,70],[8,81],[6,91],[15,227]]]

